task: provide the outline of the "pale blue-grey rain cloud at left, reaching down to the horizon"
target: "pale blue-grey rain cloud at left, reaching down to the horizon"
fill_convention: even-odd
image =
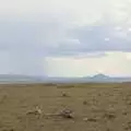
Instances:
[[[5,21],[0,28],[0,73],[46,74],[45,57],[64,36],[64,25],[56,21]]]

